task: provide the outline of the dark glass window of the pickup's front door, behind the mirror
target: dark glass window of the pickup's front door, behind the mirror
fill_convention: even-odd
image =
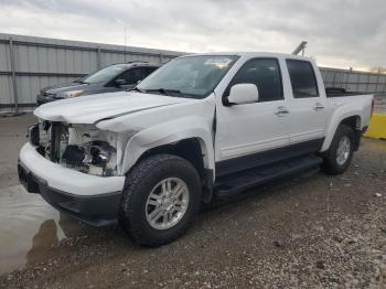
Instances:
[[[259,103],[283,99],[281,73],[276,58],[256,58],[245,63],[230,82],[230,86],[245,83],[257,86]]]

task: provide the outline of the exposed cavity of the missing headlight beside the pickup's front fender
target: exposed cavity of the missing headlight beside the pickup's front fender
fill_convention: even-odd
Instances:
[[[71,125],[67,133],[62,135],[61,154],[61,163],[66,167],[99,176],[117,175],[115,132],[94,126]]]

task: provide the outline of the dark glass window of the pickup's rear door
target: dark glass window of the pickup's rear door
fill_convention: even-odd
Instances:
[[[318,97],[318,84],[310,62],[287,60],[294,98]]]

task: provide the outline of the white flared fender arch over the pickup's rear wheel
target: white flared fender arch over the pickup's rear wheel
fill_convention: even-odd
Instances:
[[[330,148],[330,144],[332,142],[332,139],[335,135],[335,131],[337,129],[337,126],[342,122],[343,119],[349,118],[349,117],[358,117],[360,118],[360,124],[356,124],[357,128],[362,128],[362,114],[363,114],[363,107],[362,104],[358,106],[357,103],[353,103],[350,105],[344,105],[344,106],[339,106],[334,110],[333,115],[331,116],[330,124],[328,125],[326,133],[325,133],[325,139],[323,141],[322,149],[320,150],[321,152],[326,151]]]

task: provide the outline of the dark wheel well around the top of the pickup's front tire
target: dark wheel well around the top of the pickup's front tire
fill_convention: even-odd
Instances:
[[[197,170],[200,179],[203,185],[203,199],[204,202],[210,202],[212,199],[213,191],[213,171],[208,170],[204,165],[204,152],[201,148],[199,139],[191,138],[180,140],[174,143],[163,144],[157,148],[152,148],[146,151],[139,159],[138,162],[150,156],[159,153],[169,153],[179,156],[180,158],[185,159]]]

